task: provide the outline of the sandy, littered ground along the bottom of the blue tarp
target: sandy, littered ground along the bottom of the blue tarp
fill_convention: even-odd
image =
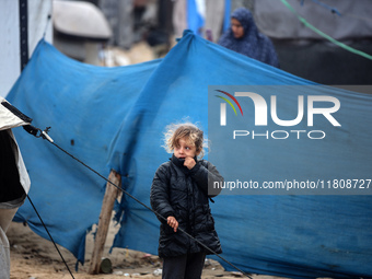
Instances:
[[[77,279],[117,279],[117,278],[153,278],[160,279],[158,275],[162,267],[161,260],[155,255],[125,248],[108,249],[116,233],[116,228],[111,225],[103,257],[112,263],[111,274],[89,275],[90,258],[94,246],[93,236],[86,236],[85,264],[79,265],[75,271],[75,258],[66,248],[58,245],[60,253],[67,261],[73,278]],[[7,233],[10,242],[11,253],[11,279],[67,279],[72,278],[65,266],[54,244],[38,236],[27,225],[13,222]],[[279,277],[252,275],[257,279],[279,279]],[[229,272],[212,259],[207,259],[202,272],[202,279],[232,279],[243,278],[239,272]]]

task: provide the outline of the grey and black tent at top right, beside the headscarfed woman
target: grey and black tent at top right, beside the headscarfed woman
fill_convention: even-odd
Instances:
[[[315,28],[372,55],[371,1],[286,1]],[[299,21],[283,2],[254,3],[257,26],[272,39],[281,69],[323,84],[372,84],[371,60],[329,43]]]

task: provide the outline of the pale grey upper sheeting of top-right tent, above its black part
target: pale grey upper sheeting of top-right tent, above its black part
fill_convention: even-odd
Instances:
[[[360,1],[297,1],[288,0],[309,23],[335,39],[360,39],[371,37],[372,22],[369,11],[372,3]],[[336,9],[336,12],[332,12]],[[259,30],[278,39],[323,39],[303,25],[282,1],[255,1],[255,20]],[[280,24],[279,24],[280,23]]]

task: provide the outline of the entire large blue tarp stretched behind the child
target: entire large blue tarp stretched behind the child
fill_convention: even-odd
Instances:
[[[164,127],[188,118],[200,123],[208,135],[208,85],[219,84],[312,83],[187,32],[163,60],[114,69],[75,62],[40,42],[9,100],[34,118],[35,126],[51,126],[49,135],[57,144],[104,176],[111,167],[118,171],[123,187],[149,205],[153,174],[170,156],[161,147]],[[338,95],[338,90],[330,89],[328,94]],[[369,137],[372,97],[342,94],[342,106],[356,107],[356,121],[362,117],[365,129],[350,125],[340,132]],[[287,96],[291,102],[293,97],[297,100],[294,95]],[[350,117],[352,124],[353,116]],[[85,232],[98,220],[105,183],[48,142],[22,130],[16,131],[16,137],[32,178],[34,204],[56,242],[83,261]],[[350,160],[347,164],[371,170],[372,149],[359,143],[352,137],[341,137],[337,147],[356,151],[354,156],[345,159]],[[278,144],[265,148],[267,162],[280,149]],[[326,148],[317,148],[323,154],[322,167],[332,166],[333,158],[327,158]],[[309,152],[313,150],[303,149],[298,154],[299,162],[306,160]],[[255,165],[254,158],[246,161],[249,172],[260,176],[266,172],[275,176],[284,167],[265,168]],[[286,160],[281,164],[286,165]],[[318,162],[306,165],[316,172]],[[370,172],[363,174],[365,177],[357,178],[370,178]],[[220,195],[211,208],[222,256],[247,272],[368,278],[372,277],[371,201],[368,195]],[[116,209],[121,228],[113,246],[156,254],[155,216],[127,196]],[[46,237],[28,205],[19,210],[16,218],[26,220]]]

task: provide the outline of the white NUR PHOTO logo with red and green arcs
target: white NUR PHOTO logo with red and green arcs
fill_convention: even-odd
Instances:
[[[251,123],[252,117],[254,117],[254,127],[292,127],[291,130],[266,130],[264,133],[256,132],[255,130],[248,131],[248,130],[234,130],[233,132],[233,139],[236,137],[246,137],[252,136],[252,138],[256,138],[258,136],[265,137],[266,139],[272,138],[272,139],[287,139],[290,137],[290,135],[293,135],[297,137],[297,139],[300,139],[302,133],[306,133],[307,138],[310,139],[323,139],[325,138],[326,133],[323,130],[305,130],[303,127],[314,127],[316,126],[314,123],[315,120],[317,124],[322,123],[321,126],[327,126],[327,123],[330,124],[330,127],[340,127],[340,123],[336,119],[335,114],[340,108],[340,102],[335,96],[329,95],[298,95],[297,96],[297,103],[281,103],[279,105],[278,98],[280,98],[280,95],[277,93],[277,95],[268,95],[267,91],[263,92],[265,93],[263,95],[255,92],[234,92],[233,94],[228,93],[226,91],[222,90],[214,90],[217,92],[222,93],[223,95],[214,95],[216,97],[219,97],[223,100],[223,103],[220,103],[220,127],[228,126],[228,114],[226,114],[226,104],[231,106],[233,109],[235,116],[239,115],[237,109],[235,106],[237,106],[242,117],[243,115],[243,108],[242,108],[242,101],[243,105],[248,107],[245,107],[244,109],[251,111],[252,113],[247,114],[245,118],[231,118],[229,121],[231,124],[236,123],[244,123],[246,119],[246,123]],[[314,92],[314,91],[313,91]],[[266,96],[266,98],[264,97]],[[244,98],[243,98],[244,97]],[[237,101],[237,98],[241,101],[241,103]],[[246,102],[249,100],[248,102]],[[252,105],[253,104],[253,105]],[[284,105],[284,106],[282,106]],[[287,114],[284,117],[279,117],[279,112],[290,112],[290,114]],[[254,115],[253,115],[254,112]],[[231,117],[231,114],[229,114]],[[289,116],[288,116],[289,115]],[[249,118],[248,118],[249,117]],[[287,119],[283,119],[287,118]],[[300,125],[300,126],[298,126]],[[229,125],[230,126],[230,125]],[[302,127],[302,129],[294,129],[294,127]],[[319,126],[318,126],[319,127]],[[246,128],[246,126],[244,127]]]

